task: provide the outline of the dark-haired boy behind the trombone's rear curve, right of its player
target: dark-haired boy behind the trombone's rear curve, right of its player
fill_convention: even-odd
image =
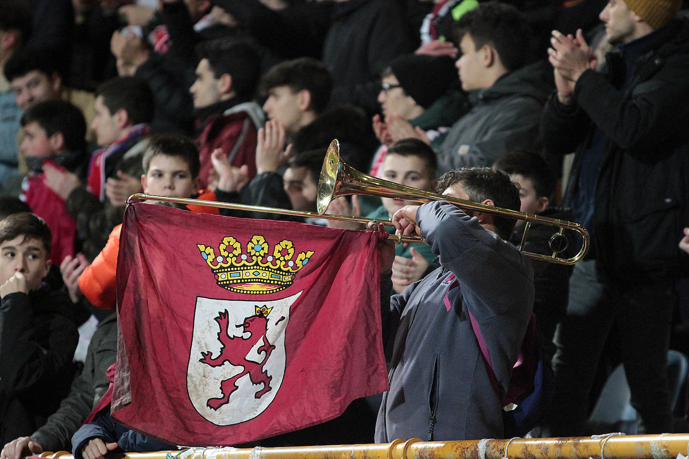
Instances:
[[[505,171],[513,182],[520,185],[520,211],[561,220],[572,220],[569,213],[548,207],[548,197],[555,193],[555,178],[542,156],[528,151],[511,151],[498,158],[493,168]],[[515,246],[519,246],[522,242],[524,223],[524,220],[517,220],[515,224],[510,237],[510,242]],[[548,241],[556,230],[554,226],[548,225],[531,226],[524,243],[524,250],[550,255],[553,251],[548,247]],[[571,252],[573,248],[574,241],[570,240],[568,252]],[[567,309],[572,266],[538,260],[531,260],[531,264],[535,288],[533,312],[536,314],[538,328],[543,334],[546,350],[552,357],[555,353],[553,345],[555,326],[564,318]]]

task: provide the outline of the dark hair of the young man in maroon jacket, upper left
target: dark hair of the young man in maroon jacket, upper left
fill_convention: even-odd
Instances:
[[[260,55],[254,45],[234,38],[203,41],[196,46],[199,61],[207,59],[217,79],[232,76],[232,89],[242,101],[251,100],[260,76]]]

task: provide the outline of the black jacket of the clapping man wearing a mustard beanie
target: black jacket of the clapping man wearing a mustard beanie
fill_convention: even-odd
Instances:
[[[689,21],[662,33],[668,39],[639,56],[624,91],[624,62],[606,56],[604,72],[587,70],[574,91],[577,111],[565,114],[551,97],[542,120],[546,152],[577,150],[565,204],[573,199],[582,151],[595,128],[608,139],[597,174],[593,230],[601,279],[657,281],[686,273],[677,243],[689,226]]]

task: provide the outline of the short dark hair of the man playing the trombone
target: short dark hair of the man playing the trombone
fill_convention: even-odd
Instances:
[[[438,193],[450,186],[461,183],[464,191],[473,202],[492,200],[495,206],[502,209],[519,211],[521,200],[517,184],[510,180],[504,171],[490,167],[462,167],[442,174],[438,179]],[[502,239],[509,239],[517,221],[514,218],[493,215],[493,225]]]

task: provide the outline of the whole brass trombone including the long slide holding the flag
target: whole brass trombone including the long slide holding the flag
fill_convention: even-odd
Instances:
[[[383,180],[376,177],[371,177],[356,169],[353,169],[345,162],[340,160],[340,144],[338,140],[333,140],[328,147],[325,160],[323,161],[323,167],[320,172],[320,180],[318,182],[318,195],[316,201],[316,208],[318,213],[315,212],[300,212],[293,211],[290,209],[276,209],[274,207],[263,207],[263,206],[250,206],[247,204],[233,204],[229,202],[218,202],[218,201],[205,201],[205,200],[195,200],[189,198],[170,198],[168,196],[158,196],[158,195],[147,195],[144,193],[136,193],[131,195],[127,199],[127,204],[136,202],[138,200],[156,200],[164,202],[177,202],[179,204],[196,204],[198,206],[211,206],[219,207],[221,209],[235,209],[240,211],[251,211],[251,212],[265,212],[265,213],[278,213],[282,215],[294,215],[297,217],[313,217],[313,218],[325,218],[328,220],[342,220],[346,222],[357,222],[362,224],[367,224],[368,222],[382,223],[387,226],[393,226],[392,222],[372,220],[363,217],[353,217],[351,215],[332,215],[325,213],[328,208],[328,204],[333,198],[337,198],[342,195],[369,195],[387,198],[398,198],[402,200],[408,200],[413,202],[431,202],[436,200],[446,200],[459,204],[461,209],[480,211],[486,213],[492,213],[494,215],[502,215],[504,217],[512,217],[519,220],[526,221],[526,227],[524,228],[524,237],[522,237],[522,243],[520,244],[520,250],[526,242],[526,235],[531,227],[531,223],[546,224],[549,226],[555,226],[559,228],[557,233],[554,233],[551,237],[549,245],[553,250],[552,255],[542,255],[539,253],[531,253],[522,250],[522,253],[526,257],[533,259],[538,259],[542,261],[550,261],[551,263],[557,264],[575,264],[577,261],[582,259],[586,255],[588,250],[588,231],[582,225],[574,222],[567,222],[566,220],[557,220],[548,217],[539,217],[539,215],[533,215],[531,213],[524,213],[518,211],[512,211],[511,209],[502,209],[495,206],[487,206],[486,204],[479,204],[477,202],[471,202],[466,200],[460,200],[457,198],[452,198],[445,195],[439,195],[436,193],[431,193],[429,191],[422,191],[419,189],[411,188],[410,186],[404,186],[396,184],[394,182],[389,182],[388,180]],[[582,235],[582,248],[579,253],[571,258],[561,258],[557,254],[562,252],[567,248],[567,238],[563,234],[565,229],[570,229],[577,231],[577,233]],[[424,242],[421,237],[418,236],[407,236],[407,235],[390,235],[390,239],[394,239],[396,242]]]

